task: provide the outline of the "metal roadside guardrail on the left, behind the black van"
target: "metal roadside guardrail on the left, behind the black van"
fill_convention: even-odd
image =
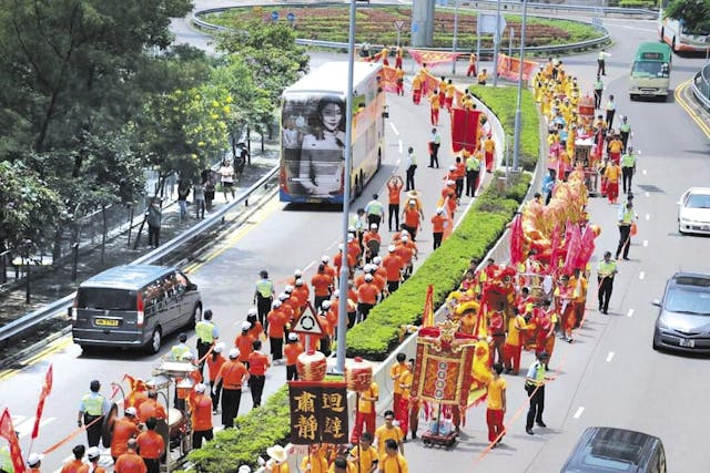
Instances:
[[[242,204],[248,204],[248,198],[254,192],[258,191],[262,186],[266,185],[276,174],[278,173],[278,166],[273,167],[268,173],[266,173],[261,179],[254,183],[250,188],[244,191],[234,202],[231,204],[226,204],[220,207],[214,214],[210,215],[210,217],[194,225],[183,234],[174,237],[170,241],[166,241],[162,246],[159,246],[154,250],[146,253],[140,258],[131,261],[129,265],[150,265],[154,263],[160,263],[163,258],[169,256],[171,253],[175,251],[181,246],[190,243],[195,237],[202,235],[206,230],[212,227],[220,225],[224,222],[226,215],[234,210],[234,208]],[[180,266],[180,265],[178,265]],[[49,304],[33,312],[30,312],[23,317],[20,317],[17,320],[11,321],[2,327],[0,327],[0,346],[4,345],[8,340],[20,336],[21,333],[26,333],[33,329],[38,323],[41,323],[57,315],[62,312],[67,312],[67,309],[71,306],[74,300],[74,296],[77,292],[72,292],[69,296],[65,296],[59,300],[55,300],[52,304]]]

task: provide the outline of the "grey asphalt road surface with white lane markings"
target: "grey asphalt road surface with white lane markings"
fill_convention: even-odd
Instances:
[[[633,145],[642,151],[635,182],[639,235],[631,247],[632,260],[620,264],[611,311],[609,316],[602,316],[588,310],[578,341],[571,346],[558,345],[551,366],[559,372],[547,392],[547,429],[536,428],[535,436],[525,434],[523,383],[521,379],[511,378],[508,380],[509,412],[506,417],[510,433],[499,449],[481,455],[487,445],[485,409],[476,408],[468,413],[464,439],[455,451],[424,449],[418,442],[406,445],[413,472],[438,471],[442,465],[459,471],[554,472],[562,464],[579,433],[589,425],[616,425],[659,435],[666,443],[670,472],[710,470],[710,460],[704,454],[707,415],[703,402],[710,372],[708,360],[653,352],[651,333],[656,308],[650,306],[674,270],[708,270],[707,257],[703,259],[708,240],[678,236],[676,202],[687,187],[708,182],[709,138],[672,101],[628,101],[626,89],[631,56],[638,42],[656,38],[653,23],[612,20],[607,25],[619,41],[610,49],[613,55],[608,61],[608,86],[617,95],[618,113],[629,115]],[[320,54],[316,61],[324,56],[331,54]],[[567,69],[589,86],[595,59],[596,54],[590,53],[564,61]],[[676,56],[673,85],[689,79],[701,63],[699,59]],[[384,166],[356,206],[364,204],[398,167],[404,157],[402,147],[413,143],[420,160],[424,158],[428,110],[414,107],[406,97],[390,96],[388,101],[389,122],[394,127],[387,127]],[[447,119],[442,122],[443,127],[448,124]],[[440,188],[442,174],[425,166],[417,174],[428,215]],[[648,191],[645,191],[646,185],[658,189],[646,187]],[[617,208],[602,199],[592,199],[590,209],[592,219],[602,226],[597,245],[599,255],[616,247]],[[322,254],[335,251],[338,228],[339,214],[336,212],[291,209],[273,202],[247,226],[225,238],[221,253],[193,276],[201,286],[205,308],[215,312],[222,338],[231,341],[236,335],[236,326],[245,318],[258,269],[268,269],[280,288],[295,268],[307,268],[310,276]],[[430,227],[426,228],[430,232]],[[430,245],[427,230],[419,244],[425,253],[429,251]],[[590,288],[596,290],[596,285],[591,284]],[[590,299],[589,302],[589,309],[594,309],[595,301]],[[101,379],[104,392],[108,392],[109,382],[120,380],[123,373],[149,377],[158,364],[156,357],[121,351],[83,357],[79,347],[67,340],[47,350],[49,354],[31,360],[34,362],[0,381],[0,398],[14,414],[21,444],[28,449],[37,395],[47,367],[53,364],[54,388],[47,400],[44,426],[33,451],[43,451],[72,432],[78,399],[91,379]],[[529,362],[531,357],[524,356],[523,364]],[[266,393],[281,385],[284,378],[283,367],[273,369],[268,373]],[[516,419],[519,407],[523,417]],[[241,412],[248,408],[250,397],[244,395]],[[59,467],[71,445],[84,441],[81,435],[48,455],[44,471]]]

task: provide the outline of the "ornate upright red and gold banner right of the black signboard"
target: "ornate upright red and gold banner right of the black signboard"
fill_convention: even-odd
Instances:
[[[476,338],[456,332],[457,328],[457,322],[447,320],[419,329],[413,395],[439,404],[467,405]]]

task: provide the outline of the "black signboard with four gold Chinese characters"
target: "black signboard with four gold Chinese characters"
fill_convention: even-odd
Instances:
[[[347,443],[344,382],[290,381],[291,443]]]

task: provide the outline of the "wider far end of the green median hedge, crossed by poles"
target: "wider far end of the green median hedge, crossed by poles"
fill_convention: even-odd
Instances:
[[[513,153],[513,136],[515,130],[515,110],[517,104],[516,88],[487,88],[485,85],[471,85],[470,93],[486,104],[488,109],[498,117],[510,142],[510,153]],[[524,89],[520,101],[520,121],[523,130],[520,132],[520,166],[525,171],[535,171],[537,156],[540,147],[539,119],[537,106],[532,93]],[[513,165],[513,162],[510,163]]]

